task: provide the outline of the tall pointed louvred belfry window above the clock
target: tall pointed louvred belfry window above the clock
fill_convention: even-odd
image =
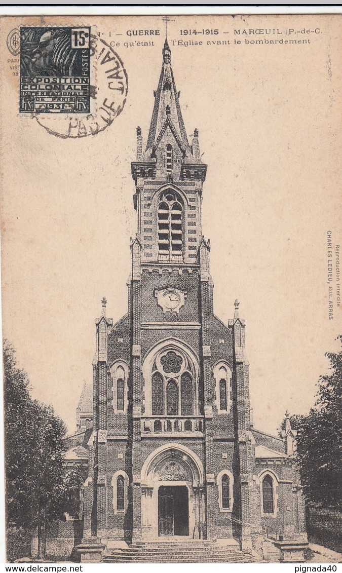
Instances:
[[[183,203],[171,190],[162,194],[158,204],[158,253],[160,261],[183,259]]]

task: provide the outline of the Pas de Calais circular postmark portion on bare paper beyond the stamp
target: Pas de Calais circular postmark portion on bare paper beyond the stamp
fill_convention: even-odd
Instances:
[[[121,58],[111,46],[91,36],[90,113],[30,114],[52,135],[60,138],[83,138],[96,135],[111,125],[123,111],[128,78]]]

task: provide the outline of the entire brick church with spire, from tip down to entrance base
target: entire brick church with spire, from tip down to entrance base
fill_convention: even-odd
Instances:
[[[306,541],[295,433],[288,419],[282,438],[254,429],[238,301],[228,324],[214,315],[206,170],[166,41],[150,129],[143,143],[137,128],[131,164],[128,312],[113,324],[104,299],[96,321],[82,519],[84,538],[104,546],[234,539],[251,551],[265,538]]]

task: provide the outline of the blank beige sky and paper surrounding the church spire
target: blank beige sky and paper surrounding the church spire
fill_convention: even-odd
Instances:
[[[19,76],[6,38],[22,25],[91,25],[115,43],[128,98],[105,131],[61,139],[19,115]],[[160,34],[127,35],[145,29]],[[180,34],[190,29],[219,34]],[[188,135],[199,129],[209,166],[202,213],[214,309],[227,323],[235,298],[241,302],[254,424],[265,431],[276,431],[286,409],[305,413],[313,405],[324,353],[340,333],[336,269],[329,320],[327,246],[331,231],[335,265],[342,240],[340,29],[337,15],[172,16],[168,23],[183,119]],[[51,403],[73,431],[83,380],[92,380],[100,300],[107,297],[114,321],[127,308],[136,222],[130,162],[136,126],[147,136],[164,21],[6,17],[0,37],[3,336],[17,348],[34,397]],[[281,38],[301,43],[251,44]],[[184,45],[190,40],[203,43]]]

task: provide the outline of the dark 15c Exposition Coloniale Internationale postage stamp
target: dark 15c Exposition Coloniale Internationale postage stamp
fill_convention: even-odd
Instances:
[[[90,28],[20,29],[20,112],[90,112]]]

